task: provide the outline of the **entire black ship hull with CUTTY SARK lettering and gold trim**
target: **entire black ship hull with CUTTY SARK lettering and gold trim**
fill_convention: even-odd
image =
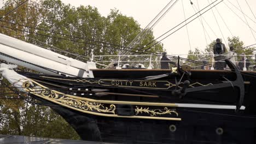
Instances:
[[[115,143],[256,143],[254,74],[243,74],[243,88],[239,88],[234,86],[238,76],[232,71],[191,70],[191,76],[183,79],[191,82],[188,90],[195,90],[189,90],[190,93],[184,95],[172,93],[184,87],[184,80],[177,85],[182,75],[142,79],[166,73],[170,71],[94,70],[94,80],[29,73],[22,75],[40,83],[40,86],[61,92],[56,94],[54,91],[55,95],[46,95],[47,99],[38,93],[30,95],[65,118],[83,140]],[[174,77],[179,79],[174,80]],[[176,85],[173,84],[175,82]],[[234,85],[224,86],[228,82],[234,82]],[[212,86],[218,88],[207,88]],[[108,90],[102,92],[102,89]],[[244,95],[239,106],[241,91]],[[67,93],[73,95],[71,98],[95,100],[89,103],[93,106],[102,103],[98,105],[101,109],[92,107],[90,110],[88,105],[88,109],[74,106],[74,103],[82,102],[73,99],[72,104],[70,101],[64,103],[60,99],[67,99]],[[61,103],[56,102],[58,100]]]

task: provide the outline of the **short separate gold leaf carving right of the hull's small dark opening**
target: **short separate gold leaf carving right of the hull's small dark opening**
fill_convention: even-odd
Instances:
[[[143,108],[143,107],[136,106],[135,112],[136,112],[136,115],[138,115],[139,113],[143,113],[143,112],[148,113],[152,117],[156,116],[156,115],[165,115],[165,114],[172,115],[172,113],[174,113],[174,114],[176,114],[176,116],[178,116],[178,113],[175,110],[169,110],[167,107],[165,107],[164,111],[162,111],[160,109],[149,110],[149,107]]]

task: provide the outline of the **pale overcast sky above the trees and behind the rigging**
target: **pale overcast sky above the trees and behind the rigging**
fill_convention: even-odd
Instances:
[[[62,0],[62,2],[66,4],[69,3],[74,7],[79,7],[80,5],[91,5],[92,7],[96,7],[102,16],[107,16],[110,9],[116,8],[120,10],[122,14],[132,16],[141,25],[141,27],[144,28],[166,6],[167,3],[171,2],[171,0]],[[203,9],[209,3],[214,1],[191,0],[191,2],[193,2],[193,5],[190,4],[189,0],[179,0],[173,8],[168,11],[164,18],[162,18],[161,21],[153,28],[155,38],[158,38],[174,26],[183,22],[185,20],[184,13],[185,17],[188,18],[191,15],[194,15],[195,11],[198,12],[199,9]],[[220,2],[220,0],[217,0],[216,3],[218,2]],[[174,1],[172,3],[174,3]],[[228,5],[228,7],[226,5]],[[242,13],[240,11],[240,7],[242,9]],[[254,17],[256,16],[255,0],[224,0],[223,2],[220,2],[216,8],[208,10],[203,14],[201,16],[202,22],[198,18],[190,22],[187,25],[188,32],[186,27],[183,27],[179,29],[179,31],[171,34],[170,37],[162,40],[161,42],[164,44],[164,49],[167,50],[167,53],[187,54],[190,47],[191,50],[195,50],[195,48],[204,50],[206,45],[211,43],[211,41],[220,38],[223,43],[226,44],[228,43],[227,38],[232,36],[240,37],[240,39],[245,43],[245,46],[256,44],[256,17]],[[246,16],[245,19],[243,13],[250,19]]]

